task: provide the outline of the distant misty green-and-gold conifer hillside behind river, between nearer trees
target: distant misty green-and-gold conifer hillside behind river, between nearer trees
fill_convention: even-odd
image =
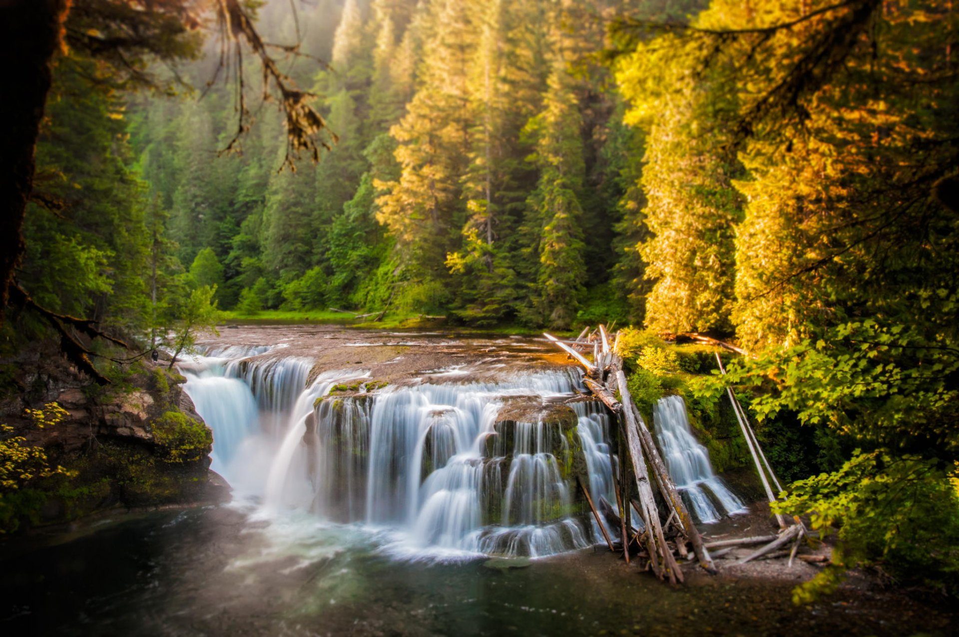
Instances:
[[[642,232],[618,231],[636,206],[640,136],[622,123],[599,53],[609,19],[629,4],[301,9],[300,37],[330,68],[314,74],[298,59],[291,73],[339,135],[318,165],[277,172],[286,149],[269,106],[241,156],[212,161],[233,122],[226,87],[134,108],[143,176],[170,211],[179,260],[216,257],[221,306],[246,312],[388,305],[564,328],[625,319],[626,288],[608,284],[639,275],[617,237]],[[667,19],[696,3],[675,5],[644,11]],[[296,38],[285,7],[268,6],[261,23]],[[187,74],[201,84],[216,63],[207,56]]]

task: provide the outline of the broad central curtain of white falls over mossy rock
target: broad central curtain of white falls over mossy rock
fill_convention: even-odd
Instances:
[[[512,383],[424,384],[324,398],[316,429],[304,428],[311,507],[339,522],[403,531],[416,550],[536,556],[589,546],[590,534],[573,519],[569,474],[573,455],[582,453],[578,436],[574,449],[569,442],[575,416],[543,402],[568,396],[576,380],[562,370]],[[532,407],[507,420],[511,401]],[[566,435],[544,415],[561,410],[568,414]],[[303,506],[298,493],[286,488],[282,497]]]

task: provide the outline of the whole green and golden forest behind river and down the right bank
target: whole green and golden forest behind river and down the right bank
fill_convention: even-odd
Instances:
[[[216,41],[176,39],[161,57],[192,61],[152,70],[200,99],[60,60],[18,272],[38,302],[139,335],[209,320],[212,298],[735,339],[754,357],[727,382],[760,436],[801,423],[831,459],[784,510],[841,529],[837,568],[959,590],[951,4],[298,7],[259,28],[300,43],[284,72],[338,139],[295,170],[255,91],[222,153],[238,86],[210,82],[239,69]]]

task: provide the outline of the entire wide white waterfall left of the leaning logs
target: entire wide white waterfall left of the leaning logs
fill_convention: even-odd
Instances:
[[[181,366],[214,432],[214,468],[264,515],[310,511],[387,531],[391,550],[416,557],[584,548],[599,530],[570,474],[571,440],[591,496],[616,502],[605,410],[592,401],[548,405],[582,390],[572,367],[486,383],[433,374],[420,384],[328,396],[336,385],[362,384],[368,372],[327,371],[308,384],[311,361],[266,351],[220,350],[243,358]],[[567,410],[574,428],[564,433],[535,413],[531,422],[497,426],[511,400],[542,404],[541,414]]]

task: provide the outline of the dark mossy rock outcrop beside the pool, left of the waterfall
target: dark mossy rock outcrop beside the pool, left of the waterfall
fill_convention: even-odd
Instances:
[[[23,447],[42,447],[50,466],[62,467],[0,492],[0,532],[228,497],[209,471],[212,432],[174,371],[136,363],[100,387],[42,345],[0,365],[0,423],[12,428],[0,436],[22,436]],[[39,427],[26,413],[52,403],[64,410],[53,425]]]

